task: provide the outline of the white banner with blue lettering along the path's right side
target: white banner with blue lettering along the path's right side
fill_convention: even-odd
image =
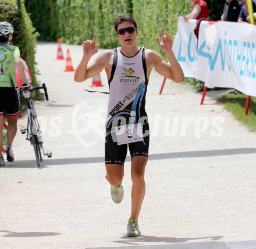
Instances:
[[[256,27],[247,23],[201,22],[198,47],[193,41],[193,27],[195,20],[184,22],[180,18],[173,44],[185,76],[205,81],[209,88],[230,87],[256,96]]]

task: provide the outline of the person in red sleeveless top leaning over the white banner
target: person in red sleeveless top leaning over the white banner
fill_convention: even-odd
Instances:
[[[204,0],[190,0],[191,3],[191,13],[189,15],[184,16],[185,20],[189,19],[202,19],[205,20],[210,19],[210,13],[207,6],[207,3]]]

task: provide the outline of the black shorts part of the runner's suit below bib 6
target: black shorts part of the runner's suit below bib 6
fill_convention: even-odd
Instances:
[[[149,130],[149,129],[145,129]],[[143,129],[143,133],[145,132]],[[125,164],[127,147],[129,147],[131,158],[133,156],[147,156],[148,147],[150,145],[150,135],[144,137],[144,141],[134,142],[130,144],[118,145],[114,142],[112,136],[106,137],[105,141],[105,164]]]

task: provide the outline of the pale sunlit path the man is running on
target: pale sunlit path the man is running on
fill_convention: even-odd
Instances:
[[[68,47],[77,66],[82,49]],[[200,106],[201,96],[189,86],[168,81],[158,95],[162,77],[152,72],[143,236],[130,239],[129,155],[121,204],[113,204],[104,179],[108,95],[83,91],[91,80],[74,83],[73,73],[63,72],[65,61],[55,56],[56,44],[38,45],[38,78],[50,101],[36,108],[53,157],[36,168],[33,148],[17,134],[16,161],[0,169],[1,249],[256,248],[256,136],[216,103],[216,93]],[[108,90],[105,73],[101,78],[100,89]],[[25,124],[19,120],[19,127]]]

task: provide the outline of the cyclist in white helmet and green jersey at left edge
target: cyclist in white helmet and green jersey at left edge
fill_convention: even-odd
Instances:
[[[0,166],[5,165],[2,155],[4,114],[6,114],[8,121],[7,161],[14,161],[12,142],[16,135],[19,114],[19,90],[15,78],[15,64],[19,70],[22,83],[26,83],[26,76],[20,61],[20,50],[18,47],[10,45],[12,34],[12,24],[0,22]]]

